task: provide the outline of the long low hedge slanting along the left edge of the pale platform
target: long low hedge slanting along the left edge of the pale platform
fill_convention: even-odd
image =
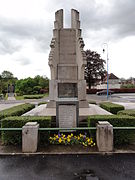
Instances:
[[[0,119],[9,117],[9,116],[21,116],[22,114],[30,111],[35,107],[34,104],[21,104],[18,106],[11,107],[9,109],[5,109],[0,111]]]

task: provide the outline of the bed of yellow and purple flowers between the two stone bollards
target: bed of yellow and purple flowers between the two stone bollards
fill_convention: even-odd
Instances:
[[[81,144],[83,146],[95,146],[95,142],[91,137],[88,137],[86,134],[74,135],[71,134],[54,134],[49,138],[50,144],[63,144],[63,145],[76,145]]]

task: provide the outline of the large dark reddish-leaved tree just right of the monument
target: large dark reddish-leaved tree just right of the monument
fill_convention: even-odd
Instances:
[[[106,75],[106,70],[104,67],[105,60],[103,60],[95,51],[86,50],[86,61],[87,65],[85,67],[85,79],[88,84],[89,89],[94,85],[97,80],[103,80]]]

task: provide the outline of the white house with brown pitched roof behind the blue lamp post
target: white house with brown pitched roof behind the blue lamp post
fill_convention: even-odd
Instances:
[[[120,89],[121,81],[113,73],[108,75],[108,85],[109,89]],[[107,75],[104,80],[97,85],[97,89],[107,89]]]

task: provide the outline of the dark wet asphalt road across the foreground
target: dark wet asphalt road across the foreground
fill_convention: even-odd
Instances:
[[[0,180],[134,180],[135,154],[1,156]]]

